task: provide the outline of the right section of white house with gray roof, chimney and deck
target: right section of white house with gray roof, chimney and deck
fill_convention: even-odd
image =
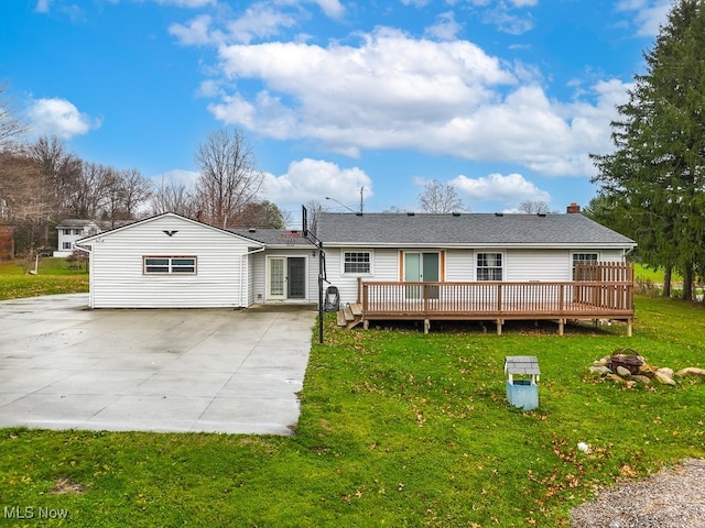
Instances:
[[[375,320],[633,321],[636,246],[579,213],[323,213],[327,277],[350,309]]]

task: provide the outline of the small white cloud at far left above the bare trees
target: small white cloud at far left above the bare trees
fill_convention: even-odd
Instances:
[[[28,118],[35,134],[53,134],[64,140],[101,125],[99,119],[79,112],[74,103],[58,98],[36,99],[28,109]]]

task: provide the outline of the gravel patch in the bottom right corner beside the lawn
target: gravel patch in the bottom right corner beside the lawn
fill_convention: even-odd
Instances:
[[[573,528],[705,527],[705,460],[686,459],[646,481],[598,492],[571,510]]]

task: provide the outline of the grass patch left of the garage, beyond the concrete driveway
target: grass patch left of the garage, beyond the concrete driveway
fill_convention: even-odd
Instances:
[[[34,261],[0,262],[0,300],[37,295],[79,294],[88,292],[86,265],[72,266],[66,258],[40,258],[36,275]]]

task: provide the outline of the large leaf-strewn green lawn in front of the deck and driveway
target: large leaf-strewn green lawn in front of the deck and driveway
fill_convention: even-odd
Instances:
[[[567,527],[595,486],[705,457],[705,381],[627,389],[586,375],[625,346],[705,366],[701,306],[640,297],[637,316],[632,338],[619,326],[346,331],[328,316],[295,436],[4,429],[0,503],[91,527]],[[506,402],[517,354],[539,356],[535,411]],[[80,491],[52,493],[62,480]]]

